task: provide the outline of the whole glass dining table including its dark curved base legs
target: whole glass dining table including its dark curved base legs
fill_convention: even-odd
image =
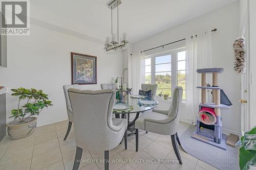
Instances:
[[[115,110],[117,105],[124,106],[124,109],[120,108]],[[116,118],[120,118],[120,117],[127,118],[127,121],[128,121],[127,135],[132,135],[135,133],[135,121],[138,119],[139,114],[148,110],[152,110],[157,106],[158,106],[158,102],[156,100],[135,99],[135,98],[131,98],[130,94],[129,95],[126,94],[122,101],[116,100],[114,109],[113,109],[113,114],[115,114]],[[130,121],[131,114],[136,114],[135,118],[132,121]]]

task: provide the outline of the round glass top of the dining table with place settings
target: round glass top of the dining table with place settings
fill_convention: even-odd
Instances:
[[[153,103],[150,105],[146,105],[146,104],[143,104],[144,102],[142,102],[142,101],[152,101]],[[116,105],[124,105],[124,106],[126,106],[126,109],[115,110]],[[122,101],[116,100],[114,109],[113,109],[113,113],[114,114],[116,114],[116,113],[138,113],[138,112],[143,112],[143,111],[154,109],[157,107],[157,105],[158,105],[158,102],[156,100],[134,99],[134,98],[131,98],[130,94],[126,94],[124,97],[124,100],[122,100]]]

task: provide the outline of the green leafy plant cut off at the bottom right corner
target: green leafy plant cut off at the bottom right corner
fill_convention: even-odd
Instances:
[[[241,137],[241,141],[237,143],[241,145],[239,149],[239,167],[241,170],[247,170],[250,167],[255,169],[256,165],[256,126],[250,131],[245,132]],[[251,168],[252,169],[252,168]]]

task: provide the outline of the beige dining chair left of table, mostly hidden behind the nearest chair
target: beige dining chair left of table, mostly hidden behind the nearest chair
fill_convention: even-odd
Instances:
[[[67,139],[67,137],[69,135],[69,132],[70,132],[70,129],[71,129],[71,126],[72,126],[72,123],[74,122],[73,111],[72,111],[72,107],[71,107],[70,99],[69,99],[69,94],[68,94],[68,89],[69,88],[76,88],[76,89],[80,89],[80,90],[86,90],[88,87],[86,85],[78,85],[78,84],[64,85],[63,86],[65,99],[66,99],[67,113],[68,113],[68,118],[69,118],[68,130],[66,132],[64,140]]]

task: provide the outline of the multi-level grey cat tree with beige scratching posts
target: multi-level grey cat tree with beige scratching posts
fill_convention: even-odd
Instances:
[[[212,125],[206,125],[198,118],[197,130],[191,136],[197,140],[214,145],[215,147],[226,150],[225,139],[222,135],[222,120],[221,120],[221,108],[229,108],[229,106],[220,103],[220,90],[218,86],[218,73],[221,73],[223,68],[203,68],[197,69],[197,72],[201,74],[201,86],[197,88],[201,89],[201,103],[199,105],[200,110],[204,108],[212,108],[215,111],[216,123]],[[206,74],[212,74],[212,86],[206,86]],[[212,103],[206,103],[206,89],[212,89]]]

